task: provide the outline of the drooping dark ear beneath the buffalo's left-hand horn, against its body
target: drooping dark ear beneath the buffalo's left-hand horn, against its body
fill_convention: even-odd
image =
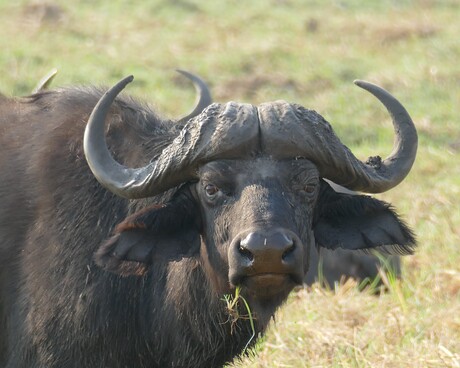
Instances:
[[[149,266],[193,257],[200,248],[199,219],[191,195],[176,193],[163,206],[136,212],[117,225],[94,255],[103,269],[143,275]]]

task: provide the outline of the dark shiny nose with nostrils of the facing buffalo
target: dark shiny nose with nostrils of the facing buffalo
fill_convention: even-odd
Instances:
[[[238,252],[251,264],[277,267],[294,261],[291,256],[295,248],[293,238],[283,231],[271,234],[251,232],[240,240]]]

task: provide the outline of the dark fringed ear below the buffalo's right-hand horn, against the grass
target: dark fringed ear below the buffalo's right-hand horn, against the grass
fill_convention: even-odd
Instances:
[[[390,254],[412,254],[412,230],[389,203],[366,196],[334,191],[321,182],[313,231],[320,247],[350,250],[378,249]]]

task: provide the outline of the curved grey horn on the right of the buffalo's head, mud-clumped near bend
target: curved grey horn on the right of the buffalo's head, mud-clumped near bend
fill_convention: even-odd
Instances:
[[[387,108],[393,121],[393,151],[360,161],[318,113],[284,101],[259,106],[262,146],[278,158],[312,160],[323,178],[350,190],[381,193],[398,185],[410,172],[417,154],[417,130],[401,103],[383,88],[356,81]]]

